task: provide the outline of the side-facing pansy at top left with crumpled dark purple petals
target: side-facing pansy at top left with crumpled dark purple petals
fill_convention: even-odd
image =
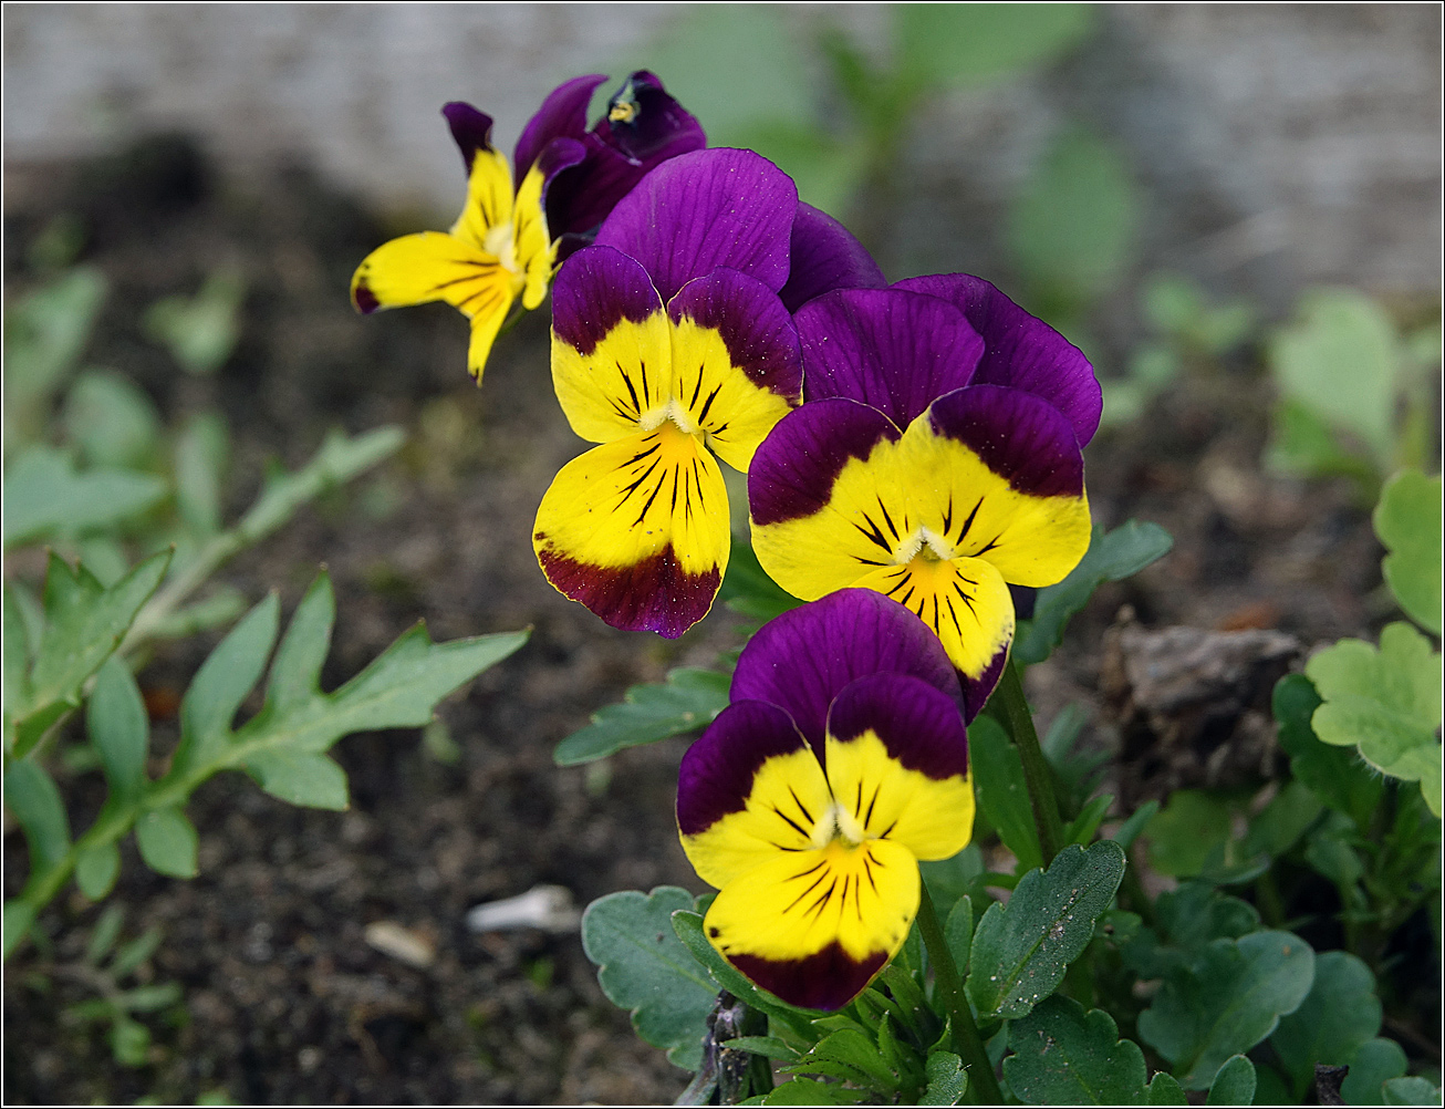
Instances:
[[[491,117],[460,101],[442,114],[467,168],[467,204],[449,231],[393,239],[357,267],[351,301],[361,312],[445,301],[471,320],[467,369],[481,380],[491,344],[520,298],[546,296],[559,249],[585,241],[656,165],[704,146],[696,120],[656,77],[634,72],[587,130],[587,106],[605,77],[558,87],[507,159],[491,146]]]

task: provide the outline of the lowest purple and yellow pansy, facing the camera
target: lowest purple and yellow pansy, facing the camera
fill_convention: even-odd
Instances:
[[[974,823],[959,688],[903,606],[841,590],[764,625],[678,775],[704,933],[793,1005],[837,1009],[902,947],[919,860]]]

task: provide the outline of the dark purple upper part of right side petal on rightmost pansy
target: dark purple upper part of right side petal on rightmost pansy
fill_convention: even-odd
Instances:
[[[1074,425],[1043,398],[1023,389],[971,385],[939,398],[928,412],[935,435],[968,447],[1014,492],[1033,497],[1084,494],[1084,455]]]

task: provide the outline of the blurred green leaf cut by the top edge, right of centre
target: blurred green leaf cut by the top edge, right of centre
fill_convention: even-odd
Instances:
[[[896,4],[889,13],[899,72],[919,88],[1046,65],[1095,20],[1088,4]]]

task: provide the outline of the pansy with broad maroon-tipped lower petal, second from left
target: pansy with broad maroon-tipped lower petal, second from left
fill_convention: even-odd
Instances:
[[[548,580],[614,628],[682,635],[727,568],[727,490],[802,399],[789,276],[793,182],[750,150],[649,174],[558,272],[552,382],[601,444],[542,497]]]

